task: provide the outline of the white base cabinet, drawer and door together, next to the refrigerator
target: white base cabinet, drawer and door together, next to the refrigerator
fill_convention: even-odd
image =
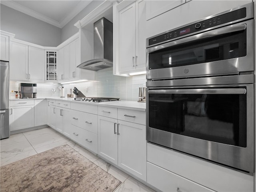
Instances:
[[[10,102],[10,131],[34,127],[34,100]]]

